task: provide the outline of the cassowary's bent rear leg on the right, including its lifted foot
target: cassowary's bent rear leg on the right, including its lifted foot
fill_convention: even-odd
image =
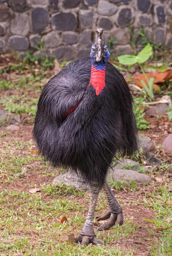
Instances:
[[[97,228],[97,231],[109,230],[109,228],[112,227],[113,225],[120,226],[123,224],[123,210],[120,207],[120,204],[118,203],[117,199],[115,198],[107,180],[103,186],[103,189],[107,197],[109,210],[104,215],[97,218],[97,221],[106,220],[108,218],[109,220],[106,221],[103,225],[100,225],[100,227]]]

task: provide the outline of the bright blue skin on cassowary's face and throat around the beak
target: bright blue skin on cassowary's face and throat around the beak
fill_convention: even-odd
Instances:
[[[91,48],[90,57],[92,58],[92,66],[97,68],[98,70],[105,69],[106,62],[107,62],[107,60],[109,59],[109,56],[110,56],[110,52],[109,52],[109,49],[108,49],[106,44],[103,46],[103,49],[104,50],[101,53],[101,55],[102,55],[101,60],[96,62],[96,53],[95,53],[96,52],[96,47],[93,44],[92,48]]]

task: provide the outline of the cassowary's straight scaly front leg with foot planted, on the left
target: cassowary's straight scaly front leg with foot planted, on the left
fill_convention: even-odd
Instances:
[[[97,186],[97,184],[91,184],[90,189],[91,189],[91,200],[89,205],[89,213],[87,215],[86,221],[83,225],[83,229],[81,230],[80,234],[75,236],[75,241],[81,242],[82,245],[88,245],[89,243],[105,244],[101,239],[96,238],[95,231],[93,228],[94,212],[95,212],[98,194],[101,188],[100,186]]]

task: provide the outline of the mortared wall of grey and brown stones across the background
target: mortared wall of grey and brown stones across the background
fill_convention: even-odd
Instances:
[[[94,33],[104,29],[111,52],[131,52],[128,24],[157,44],[172,47],[172,0],[0,0],[0,52],[36,52],[44,41],[58,59],[89,56]],[[139,45],[139,39],[138,39]]]

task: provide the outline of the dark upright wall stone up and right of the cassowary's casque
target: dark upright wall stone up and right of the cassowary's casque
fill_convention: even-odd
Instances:
[[[123,8],[118,14],[118,25],[128,26],[132,22],[132,10],[130,8]]]

